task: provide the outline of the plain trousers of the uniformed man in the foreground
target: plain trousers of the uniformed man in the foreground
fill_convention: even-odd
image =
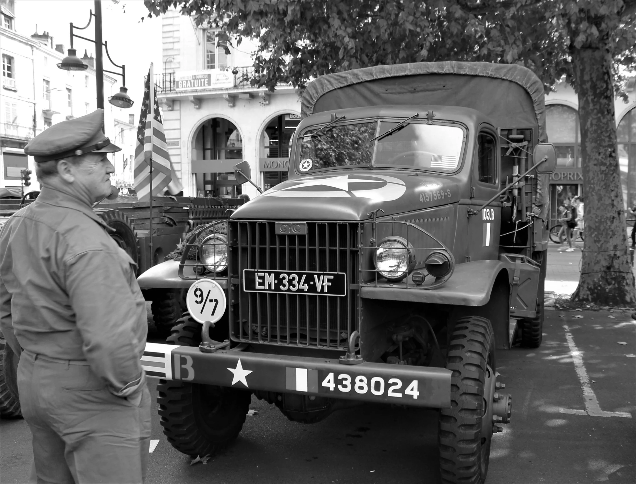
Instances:
[[[32,482],[143,482],[150,443],[146,385],[141,394],[119,398],[86,361],[23,351],[18,391],[33,436]]]

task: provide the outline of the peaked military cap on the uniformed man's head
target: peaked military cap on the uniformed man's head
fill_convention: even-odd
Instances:
[[[121,151],[102,133],[103,113],[103,109],[97,109],[86,116],[57,123],[29,141],[24,152],[33,156],[36,163],[43,163],[85,153]]]

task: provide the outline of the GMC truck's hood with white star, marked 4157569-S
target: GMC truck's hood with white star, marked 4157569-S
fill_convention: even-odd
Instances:
[[[452,179],[418,172],[365,170],[284,181],[242,205],[238,219],[366,220],[459,201]]]

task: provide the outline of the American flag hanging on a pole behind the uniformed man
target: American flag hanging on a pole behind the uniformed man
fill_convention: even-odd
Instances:
[[[170,162],[159,103],[154,85],[151,85],[151,79],[152,68],[148,71],[144,86],[144,102],[139,115],[137,146],[135,146],[135,191],[140,202],[148,202],[150,199],[149,160],[153,162],[153,197],[163,195],[166,188],[171,195],[176,195],[183,190]]]

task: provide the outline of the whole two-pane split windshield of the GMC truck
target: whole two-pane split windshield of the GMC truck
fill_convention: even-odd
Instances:
[[[300,138],[298,168],[303,173],[361,165],[447,173],[457,169],[464,142],[462,128],[424,123],[397,127],[399,124],[400,121],[364,121],[308,130]],[[394,132],[382,136],[395,127]],[[377,141],[372,141],[377,134]]]

